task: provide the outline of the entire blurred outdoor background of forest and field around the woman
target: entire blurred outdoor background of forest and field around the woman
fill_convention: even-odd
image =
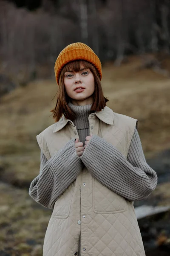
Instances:
[[[28,195],[36,135],[54,123],[54,63],[74,42],[99,56],[108,107],[139,120],[158,185],[134,205],[150,207],[138,218],[146,256],[169,256],[170,0],[0,0],[0,256],[42,255],[51,210]]]

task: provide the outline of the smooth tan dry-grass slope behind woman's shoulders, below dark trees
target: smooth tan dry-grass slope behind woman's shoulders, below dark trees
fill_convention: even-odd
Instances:
[[[136,71],[139,58],[121,67],[103,67],[102,87],[113,111],[139,120],[145,153],[170,147],[170,79],[152,70]],[[0,154],[37,150],[36,135],[54,120],[49,112],[57,91],[54,81],[36,81],[17,88],[0,102]],[[149,141],[148,141],[149,139]]]

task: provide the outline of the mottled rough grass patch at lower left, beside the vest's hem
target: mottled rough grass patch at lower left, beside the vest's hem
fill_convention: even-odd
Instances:
[[[8,255],[42,255],[51,210],[34,203],[24,189],[0,183],[0,195],[0,255],[2,250]]]

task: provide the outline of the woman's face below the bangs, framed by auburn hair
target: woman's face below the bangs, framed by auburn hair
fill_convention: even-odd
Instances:
[[[88,105],[93,103],[94,75],[82,64],[79,72],[69,70],[64,74],[64,84],[67,95],[74,105]]]

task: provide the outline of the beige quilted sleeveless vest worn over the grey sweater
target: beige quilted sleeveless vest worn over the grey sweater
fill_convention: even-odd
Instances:
[[[127,157],[137,120],[105,107],[89,115],[90,133],[104,138]],[[78,138],[73,122],[63,116],[37,141],[47,159]],[[135,181],[134,181],[135,182]],[[99,183],[86,168],[54,205],[45,233],[43,256],[144,256],[133,202]]]

